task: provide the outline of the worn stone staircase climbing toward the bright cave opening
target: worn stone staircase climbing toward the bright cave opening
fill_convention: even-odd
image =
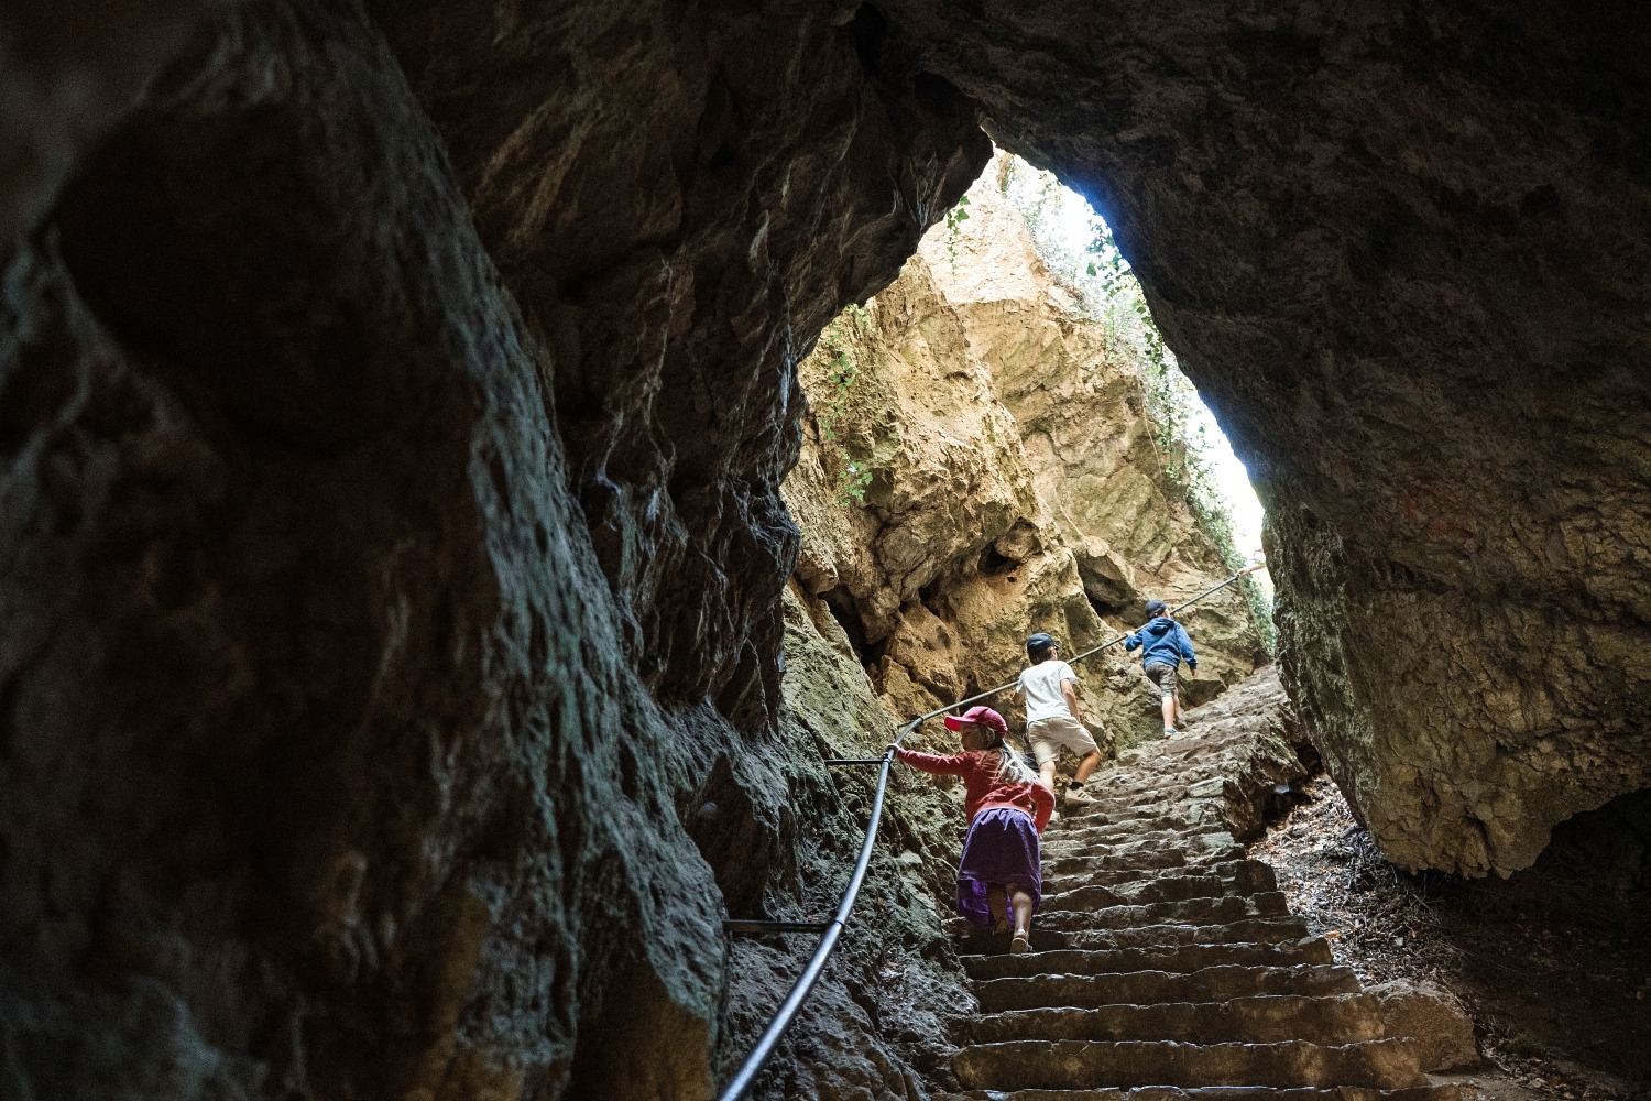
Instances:
[[[1228,697],[1045,834],[1034,951],[964,956],[981,1009],[949,1101],[1458,1099],[1235,840],[1294,761],[1255,728],[1276,682]]]

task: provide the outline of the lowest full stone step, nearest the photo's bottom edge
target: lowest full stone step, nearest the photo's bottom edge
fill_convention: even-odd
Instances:
[[[1083,1089],[1096,1086],[1367,1086],[1425,1084],[1408,1040],[1321,1045],[1101,1043],[1010,1040],[961,1048],[951,1060],[966,1089]]]

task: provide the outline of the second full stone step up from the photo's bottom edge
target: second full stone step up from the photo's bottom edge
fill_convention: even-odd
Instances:
[[[1007,1040],[1180,1040],[1185,1043],[1341,1045],[1380,1040],[1382,1007],[1370,994],[1270,994],[1220,1002],[1159,1002],[1093,1009],[1017,1009],[969,1022],[972,1043]]]

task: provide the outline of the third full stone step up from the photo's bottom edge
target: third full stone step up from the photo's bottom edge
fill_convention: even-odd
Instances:
[[[1357,994],[1359,979],[1347,967],[1298,964],[1245,967],[1218,964],[1197,971],[1128,971],[1105,976],[1027,976],[974,984],[981,1012],[1005,1009],[1147,1005],[1152,1002],[1225,1002],[1263,994]]]

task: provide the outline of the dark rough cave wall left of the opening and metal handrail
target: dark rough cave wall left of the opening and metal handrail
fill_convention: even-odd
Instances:
[[[7,1091],[703,1098],[857,810],[794,363],[972,112],[811,5],[192,15],[0,21]]]

